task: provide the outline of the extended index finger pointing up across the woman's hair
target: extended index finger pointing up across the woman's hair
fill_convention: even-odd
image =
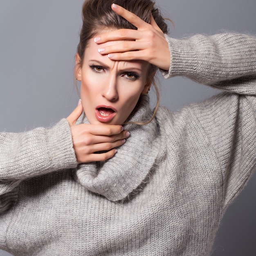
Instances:
[[[137,27],[137,29],[144,29],[144,28],[148,27],[147,22],[145,22],[144,20],[141,20],[141,18],[139,18],[137,15],[124,9],[123,7],[121,7],[117,4],[112,4],[111,8],[113,11],[115,11],[115,13],[122,16],[127,21],[129,21],[132,25]]]

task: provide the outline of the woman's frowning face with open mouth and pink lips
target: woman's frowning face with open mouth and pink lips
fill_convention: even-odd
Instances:
[[[82,106],[90,124],[123,124],[140,94],[150,86],[146,61],[112,61],[108,55],[99,54],[99,47],[118,43],[110,41],[99,46],[90,39],[82,67],[76,70]],[[78,63],[79,56],[76,58]]]

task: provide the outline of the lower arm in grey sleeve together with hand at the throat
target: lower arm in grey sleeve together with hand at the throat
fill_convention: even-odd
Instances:
[[[120,125],[76,125],[83,112],[80,103],[52,128],[0,133],[0,212],[17,199],[16,188],[22,180],[106,160],[124,144],[128,134]],[[94,154],[101,150],[107,152]]]

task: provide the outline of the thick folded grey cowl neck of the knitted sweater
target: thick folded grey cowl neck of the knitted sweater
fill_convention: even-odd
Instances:
[[[147,121],[153,115],[149,97],[142,95],[127,121]],[[88,123],[86,117],[80,123]],[[86,189],[110,201],[125,199],[146,178],[159,152],[159,129],[156,118],[147,125],[126,124],[130,132],[126,143],[114,157],[103,162],[79,164],[75,180]]]

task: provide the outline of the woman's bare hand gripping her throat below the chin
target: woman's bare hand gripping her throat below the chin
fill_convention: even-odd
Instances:
[[[74,111],[66,118],[70,124],[73,147],[78,163],[104,161],[117,152],[116,147],[125,143],[129,133],[121,125],[76,125],[77,119],[83,112],[81,100]],[[106,153],[94,154],[97,151]]]

